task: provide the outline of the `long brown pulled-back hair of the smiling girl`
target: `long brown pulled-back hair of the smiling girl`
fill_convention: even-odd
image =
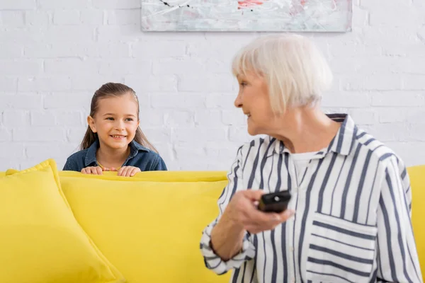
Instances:
[[[140,114],[139,99],[137,98],[135,91],[133,91],[132,88],[125,86],[125,84],[123,83],[105,83],[103,86],[101,86],[101,88],[99,88],[94,93],[93,98],[91,98],[90,116],[94,117],[94,115],[96,114],[96,111],[98,110],[98,101],[100,99],[124,96],[129,93],[132,94],[132,96],[137,102],[138,120]],[[87,127],[86,134],[84,134],[83,141],[81,141],[81,144],[79,146],[80,150],[88,149],[92,144],[94,144],[96,140],[98,140],[98,135],[91,130],[90,126]],[[145,134],[143,134],[142,129],[140,129],[140,127],[137,127],[134,140],[137,141],[138,144],[145,146],[147,149],[151,149],[152,151],[158,153],[157,149],[155,149],[155,147],[147,140],[147,137],[145,136]]]

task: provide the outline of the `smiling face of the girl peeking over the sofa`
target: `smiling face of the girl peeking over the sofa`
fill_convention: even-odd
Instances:
[[[127,149],[135,138],[139,119],[138,105],[131,93],[98,100],[94,117],[87,117],[91,130],[98,134],[101,146]]]

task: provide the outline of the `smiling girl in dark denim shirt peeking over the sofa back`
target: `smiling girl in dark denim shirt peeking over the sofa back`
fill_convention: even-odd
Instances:
[[[122,83],[101,86],[91,98],[81,150],[67,158],[63,170],[95,175],[118,171],[128,177],[141,171],[166,171],[161,156],[139,127],[139,112],[132,88]]]

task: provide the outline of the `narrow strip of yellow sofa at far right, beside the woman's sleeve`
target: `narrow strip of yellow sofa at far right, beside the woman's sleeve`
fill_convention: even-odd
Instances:
[[[412,225],[419,255],[422,277],[425,279],[425,166],[407,168],[412,187]]]

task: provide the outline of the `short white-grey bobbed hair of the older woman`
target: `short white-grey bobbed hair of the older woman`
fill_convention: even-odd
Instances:
[[[317,103],[333,80],[322,52],[307,37],[294,34],[259,37],[239,50],[232,73],[249,72],[266,80],[276,114]]]

